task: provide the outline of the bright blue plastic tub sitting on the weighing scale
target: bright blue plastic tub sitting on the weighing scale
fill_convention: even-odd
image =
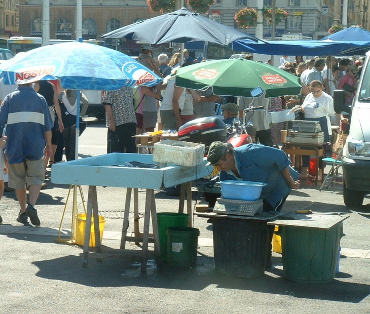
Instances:
[[[223,199],[255,201],[260,198],[262,188],[267,185],[261,182],[226,180],[220,181]]]

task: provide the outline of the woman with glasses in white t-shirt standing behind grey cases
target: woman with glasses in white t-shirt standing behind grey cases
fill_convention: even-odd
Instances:
[[[320,123],[321,132],[324,132],[324,143],[327,143],[330,141],[329,135],[331,135],[329,115],[334,116],[336,112],[334,111],[332,97],[322,90],[323,87],[323,84],[317,80],[310,83],[310,93],[306,96],[301,110],[305,113],[305,120],[318,121]],[[326,144],[323,146],[326,151]],[[319,160],[320,169],[323,168],[321,159]],[[308,178],[309,165],[310,156],[302,156],[302,179]]]

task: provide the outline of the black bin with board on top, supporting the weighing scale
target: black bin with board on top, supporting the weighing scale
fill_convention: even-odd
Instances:
[[[267,222],[275,219],[277,214],[268,212],[260,212],[254,216],[194,214],[208,218],[213,225],[216,271],[245,278],[263,276],[269,246]]]

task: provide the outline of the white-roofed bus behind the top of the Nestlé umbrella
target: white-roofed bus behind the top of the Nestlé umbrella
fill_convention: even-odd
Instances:
[[[68,43],[68,42],[72,42],[72,40],[55,40],[55,39],[49,40],[50,45]],[[104,41],[85,40],[84,43],[105,46]],[[2,44],[3,43],[0,40],[0,48],[3,48],[1,46]],[[32,50],[34,48],[41,47],[42,44],[43,44],[43,39],[41,37],[14,36],[14,37],[10,37],[9,40],[7,40],[7,47],[4,47],[4,48],[11,50],[14,53],[14,55],[16,55],[18,52],[25,52],[25,51]]]

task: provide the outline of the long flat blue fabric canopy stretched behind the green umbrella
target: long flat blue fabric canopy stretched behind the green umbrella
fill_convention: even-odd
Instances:
[[[233,42],[234,51],[245,51],[263,55],[295,55],[295,56],[327,56],[341,54],[356,54],[356,51],[370,48],[370,42],[333,42],[333,41],[265,41],[266,43],[251,43],[245,40]]]

